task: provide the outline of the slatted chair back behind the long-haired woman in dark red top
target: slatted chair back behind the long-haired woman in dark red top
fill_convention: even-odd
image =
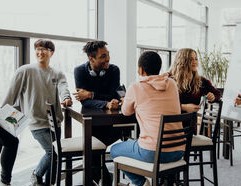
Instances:
[[[222,100],[211,103],[205,99],[204,102],[199,134],[212,138],[213,144],[216,144],[220,129],[222,105]]]

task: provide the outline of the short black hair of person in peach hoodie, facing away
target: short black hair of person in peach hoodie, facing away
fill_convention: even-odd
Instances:
[[[142,67],[147,75],[158,75],[161,70],[162,60],[158,53],[153,51],[143,52],[138,60],[138,66]]]

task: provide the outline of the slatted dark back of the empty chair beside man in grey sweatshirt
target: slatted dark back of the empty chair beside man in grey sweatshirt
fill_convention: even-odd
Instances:
[[[57,143],[57,152],[58,154],[61,154],[61,142],[60,142],[60,136],[61,136],[61,128],[58,125],[58,120],[56,118],[54,105],[46,102],[46,109],[47,109],[47,115],[48,115],[48,121],[49,126],[51,130],[51,139],[52,142],[56,141]]]

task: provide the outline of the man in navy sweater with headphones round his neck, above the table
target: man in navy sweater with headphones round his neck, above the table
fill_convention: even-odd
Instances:
[[[83,51],[89,61],[74,69],[77,92],[75,98],[84,107],[118,109],[116,89],[120,86],[120,70],[109,64],[110,56],[105,41],[90,41]]]

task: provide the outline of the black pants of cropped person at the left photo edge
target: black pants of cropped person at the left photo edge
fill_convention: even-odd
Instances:
[[[18,143],[18,138],[0,127],[1,181],[3,183],[11,182],[13,165],[18,151]]]

